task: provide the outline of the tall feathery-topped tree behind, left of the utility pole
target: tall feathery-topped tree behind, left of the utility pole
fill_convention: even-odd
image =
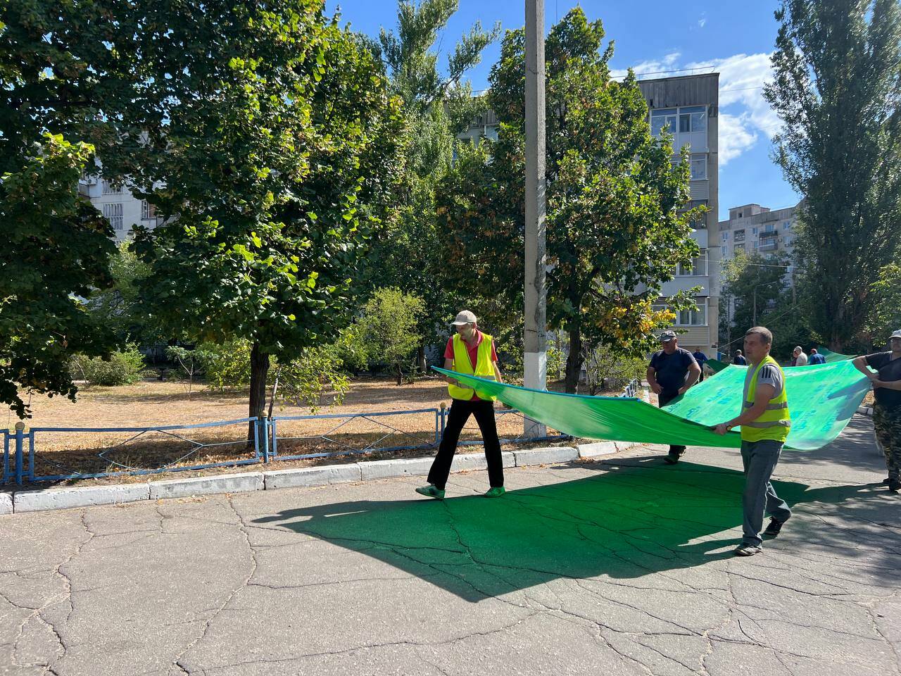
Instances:
[[[435,187],[451,167],[455,134],[466,129],[480,104],[464,79],[482,50],[496,40],[499,27],[483,31],[477,22],[450,50],[440,69],[441,33],[459,8],[459,0],[401,0],[395,31],[381,32],[378,53],[392,93],[404,114],[404,170],[387,228],[369,257],[368,288],[403,288],[423,298],[417,331],[419,368],[425,370],[424,343],[439,340],[448,316],[464,305],[460,294],[443,283],[444,261],[435,231]]]

